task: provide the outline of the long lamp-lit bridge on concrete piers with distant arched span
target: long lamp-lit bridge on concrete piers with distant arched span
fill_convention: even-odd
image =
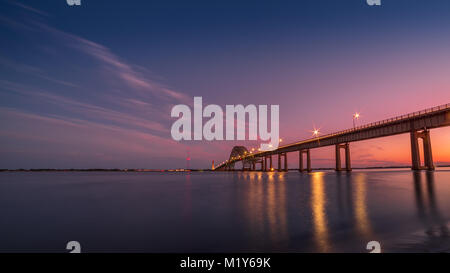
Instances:
[[[425,109],[422,111],[373,122],[370,124],[354,127],[336,133],[302,140],[278,147],[273,151],[253,152],[244,146],[235,146],[230,157],[219,164],[215,171],[235,170],[235,164],[242,162],[243,171],[257,170],[274,171],[272,157],[278,156],[278,171],[288,171],[287,153],[297,152],[299,155],[299,171],[310,172],[311,150],[319,147],[334,145],[336,171],[351,171],[350,143],[373,138],[393,136],[399,134],[410,134],[411,140],[411,169],[412,170],[434,170],[433,154],[431,149],[430,130],[450,125],[450,103]],[[422,139],[423,162],[421,163],[419,152],[419,139]],[[341,150],[345,151],[345,158],[341,159]],[[342,166],[345,161],[345,166]],[[282,164],[283,163],[283,164]],[[306,163],[306,164],[305,164]]]

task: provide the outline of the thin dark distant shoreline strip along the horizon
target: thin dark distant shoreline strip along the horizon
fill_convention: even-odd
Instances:
[[[450,167],[439,165],[437,168]],[[410,169],[411,166],[386,166],[386,167],[355,167],[353,170],[383,170],[383,169]],[[298,169],[289,169],[296,171]],[[313,168],[315,171],[328,171],[334,168]],[[0,172],[208,172],[211,169],[0,169]],[[239,170],[236,170],[239,171]],[[256,170],[258,171],[258,170]]]

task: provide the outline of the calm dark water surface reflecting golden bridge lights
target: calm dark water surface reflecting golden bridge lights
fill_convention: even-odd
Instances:
[[[450,170],[0,173],[0,251],[450,251]]]

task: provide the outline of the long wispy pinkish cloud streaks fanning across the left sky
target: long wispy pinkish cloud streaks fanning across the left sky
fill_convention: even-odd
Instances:
[[[20,3],[18,6],[33,11],[31,7]],[[33,12],[38,12],[38,10]],[[15,20],[11,19],[11,22],[15,22]],[[101,101],[109,102],[108,106],[100,106],[95,102],[82,102],[78,99],[55,94],[52,90],[41,90],[18,82],[2,80],[3,88],[22,93],[26,96],[35,97],[44,104],[53,104],[65,110],[70,110],[85,119],[103,120],[105,122],[120,124],[124,128],[135,127],[168,135],[168,127],[158,120],[167,121],[169,114],[164,115],[161,112],[161,108],[166,107],[168,109],[172,104],[180,102],[187,103],[189,100],[186,95],[152,80],[146,76],[150,72],[145,68],[123,61],[122,58],[113,54],[104,45],[61,31],[41,21],[30,19],[25,20],[25,22],[27,29],[31,28],[33,31],[43,32],[44,35],[51,35],[54,43],[73,48],[82,54],[94,58],[108,74],[112,73],[115,75],[109,78],[121,79],[127,85],[127,91],[121,94],[116,93],[115,95],[107,92],[107,90],[97,92],[97,95],[102,96],[102,98],[99,98]],[[5,57],[0,58],[0,65],[7,66],[16,72],[39,77],[60,85],[80,87],[78,83],[72,83],[50,76],[38,66],[14,62]],[[107,80],[105,79],[105,81]],[[119,87],[118,90],[120,89]],[[154,96],[157,103],[149,96]],[[142,110],[141,113],[138,112],[139,110]],[[151,115],[148,115],[148,113],[151,113]],[[146,115],[145,117],[143,117],[144,114]]]

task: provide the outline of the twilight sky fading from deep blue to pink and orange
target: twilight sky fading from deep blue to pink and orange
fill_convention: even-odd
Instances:
[[[0,0],[0,37],[0,169],[209,168],[259,146],[172,140],[194,96],[279,105],[283,144],[450,103],[446,0]],[[431,132],[435,162],[449,140]],[[352,165],[409,165],[409,147],[352,143]]]

